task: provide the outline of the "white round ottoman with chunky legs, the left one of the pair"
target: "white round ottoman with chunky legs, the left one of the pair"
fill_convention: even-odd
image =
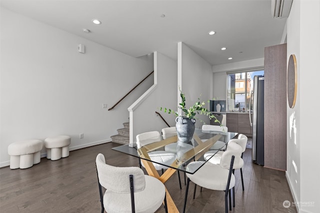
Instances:
[[[24,140],[10,144],[10,169],[26,169],[40,163],[40,151],[43,142],[40,140]]]

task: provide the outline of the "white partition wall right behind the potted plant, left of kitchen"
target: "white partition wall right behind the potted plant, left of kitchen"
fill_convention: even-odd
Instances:
[[[207,100],[212,99],[212,69],[211,65],[197,55],[191,48],[182,42],[178,43],[178,86],[185,95],[186,107],[190,107],[195,102],[204,101],[204,107],[209,110]],[[181,99],[178,98],[178,103]],[[209,124],[207,116],[197,115],[196,117]],[[195,123],[195,128],[201,128],[199,120]]]

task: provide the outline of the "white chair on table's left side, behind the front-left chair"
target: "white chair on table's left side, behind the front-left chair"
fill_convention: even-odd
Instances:
[[[161,141],[161,135],[158,131],[150,131],[150,132],[144,132],[141,134],[136,135],[136,146],[137,149],[140,149],[142,146],[152,144],[154,142]],[[152,151],[148,153],[148,156],[150,157],[151,161],[162,163],[163,165],[171,165],[175,159],[176,154],[172,152],[168,152],[165,150],[158,150],[158,151]],[[163,174],[163,171],[167,169],[167,166],[163,166],[161,164],[152,163],[155,170],[161,171]],[[139,159],[139,166],[141,168],[144,167],[143,163]],[[180,174],[178,173],[178,179],[179,179],[179,186],[181,189],[181,180],[180,180]]]

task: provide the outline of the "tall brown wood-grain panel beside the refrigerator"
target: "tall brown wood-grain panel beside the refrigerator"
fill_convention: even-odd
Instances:
[[[264,48],[264,167],[286,170],[286,43]]]

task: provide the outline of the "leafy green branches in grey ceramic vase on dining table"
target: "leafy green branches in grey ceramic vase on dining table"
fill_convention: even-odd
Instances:
[[[179,91],[180,91],[181,103],[178,104],[178,108],[181,109],[182,115],[178,114],[177,111],[174,111],[172,109],[160,107],[160,110],[165,113],[173,114],[174,116],[176,116],[175,127],[176,127],[177,137],[180,142],[188,143],[191,141],[194,130],[195,130],[196,119],[202,122],[203,124],[205,124],[204,121],[197,118],[196,115],[206,115],[209,117],[210,120],[214,119],[214,122],[218,122],[221,125],[221,123],[217,120],[217,118],[213,114],[211,114],[209,110],[207,110],[204,107],[205,103],[200,102],[200,98],[198,98],[198,101],[195,102],[192,106],[190,106],[189,108],[186,108],[185,95],[182,93],[180,89]]]

